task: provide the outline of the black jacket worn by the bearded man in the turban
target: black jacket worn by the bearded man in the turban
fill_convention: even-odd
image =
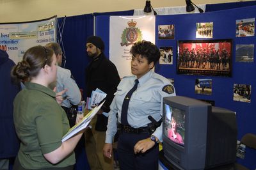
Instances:
[[[99,88],[107,93],[106,102],[102,106],[104,112],[109,112],[120,77],[116,66],[101,53],[86,68],[86,96],[91,97],[92,91]],[[108,118],[103,114],[97,116],[95,130],[106,131]]]

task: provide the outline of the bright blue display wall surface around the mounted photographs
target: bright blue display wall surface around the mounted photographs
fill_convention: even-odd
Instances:
[[[156,65],[156,72],[164,77],[174,79],[174,86],[177,95],[191,98],[214,100],[217,107],[224,107],[236,111],[238,136],[237,139],[246,133],[256,134],[255,105],[256,80],[253,73],[256,72],[256,64],[236,62],[236,44],[255,44],[256,36],[236,37],[236,20],[250,19],[256,17],[256,6],[221,10],[218,12],[194,13],[183,15],[157,15],[156,16],[156,45],[158,47],[173,47],[173,65]],[[232,77],[214,77],[202,75],[178,75],[176,73],[177,64],[177,41],[178,40],[200,40],[195,38],[197,22],[213,22],[213,38],[232,39]],[[109,16],[99,16],[96,18],[96,34],[109,42]],[[157,37],[157,27],[159,25],[175,25],[174,40],[159,40]],[[202,40],[202,39],[201,39]],[[109,43],[106,43],[106,47]],[[255,58],[255,52],[254,52]],[[200,95],[195,93],[196,79],[212,79],[212,95]],[[234,84],[250,84],[252,86],[251,103],[236,102],[233,100]],[[254,92],[253,92],[254,91]],[[218,125],[216,125],[218,126]],[[248,155],[248,156],[247,156]],[[246,158],[237,161],[250,169],[255,169],[255,151],[246,150]]]

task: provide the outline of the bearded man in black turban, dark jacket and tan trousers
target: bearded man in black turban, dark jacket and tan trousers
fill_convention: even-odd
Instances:
[[[108,117],[102,112],[110,111],[109,105],[113,100],[120,77],[116,66],[106,58],[103,51],[104,42],[99,36],[88,37],[86,52],[92,61],[86,68],[86,96],[91,97],[92,91],[97,88],[107,94],[104,105],[91,121],[92,129],[88,128],[85,132],[85,148],[92,170],[113,170],[113,157],[108,159],[102,153],[108,124]]]

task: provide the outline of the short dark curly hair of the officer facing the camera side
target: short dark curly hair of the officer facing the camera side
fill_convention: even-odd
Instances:
[[[136,56],[136,54],[140,54],[143,58],[147,58],[148,64],[152,61],[154,62],[154,66],[160,58],[160,51],[156,45],[152,42],[147,42],[142,40],[140,42],[134,43],[131,47],[130,53],[132,56]]]

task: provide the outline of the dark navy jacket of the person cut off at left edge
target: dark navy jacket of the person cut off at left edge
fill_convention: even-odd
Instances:
[[[13,100],[20,91],[20,84],[13,84],[11,70],[15,63],[8,54],[0,50],[0,159],[15,157],[19,150],[13,124]]]

